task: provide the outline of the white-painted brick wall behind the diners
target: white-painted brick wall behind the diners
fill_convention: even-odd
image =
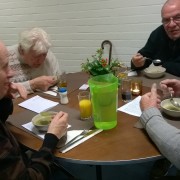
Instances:
[[[112,56],[129,65],[150,32],[160,25],[165,0],[0,0],[0,39],[16,44],[24,29],[42,27],[53,52],[68,72],[80,71],[83,60],[103,40]],[[108,52],[108,46],[105,48]],[[107,55],[108,57],[108,55]]]

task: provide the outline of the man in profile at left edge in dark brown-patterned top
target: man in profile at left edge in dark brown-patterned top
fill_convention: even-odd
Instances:
[[[0,42],[0,179],[49,179],[53,168],[52,152],[67,131],[68,114],[57,113],[51,121],[41,148],[27,159],[5,123],[12,114],[11,98],[16,91],[21,97],[27,97],[21,84],[10,82],[12,76],[13,72],[8,65],[8,51]]]

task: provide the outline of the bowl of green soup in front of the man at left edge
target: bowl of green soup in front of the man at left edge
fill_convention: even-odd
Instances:
[[[51,120],[56,114],[57,112],[54,111],[41,112],[32,118],[32,124],[39,131],[47,131]]]

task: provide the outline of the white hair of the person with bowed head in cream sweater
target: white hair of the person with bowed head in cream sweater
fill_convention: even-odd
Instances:
[[[51,43],[48,34],[41,28],[23,31],[19,38],[19,48],[28,52],[30,49],[38,54],[47,53]]]

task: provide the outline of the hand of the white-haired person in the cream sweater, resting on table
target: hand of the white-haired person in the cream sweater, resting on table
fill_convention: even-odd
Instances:
[[[47,91],[49,87],[57,83],[55,76],[40,76],[30,80],[30,86],[33,90]]]

